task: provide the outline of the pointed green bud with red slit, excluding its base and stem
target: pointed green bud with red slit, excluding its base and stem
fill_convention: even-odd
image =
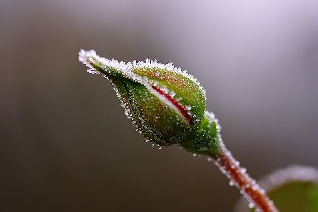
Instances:
[[[110,80],[134,126],[161,146],[181,143],[205,112],[205,91],[192,75],[171,64],[119,62],[95,51],[79,52],[79,61],[92,74]]]

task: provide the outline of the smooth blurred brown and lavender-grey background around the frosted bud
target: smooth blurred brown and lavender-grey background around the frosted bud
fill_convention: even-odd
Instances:
[[[0,0],[0,211],[230,212],[205,157],[145,144],[80,49],[187,69],[259,179],[318,167],[318,1]]]

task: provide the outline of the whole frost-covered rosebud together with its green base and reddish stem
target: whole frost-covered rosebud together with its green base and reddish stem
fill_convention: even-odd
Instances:
[[[170,64],[119,62],[100,57],[94,50],[79,52],[79,61],[91,74],[101,74],[114,86],[125,114],[159,147],[179,145],[193,155],[205,155],[236,186],[257,211],[278,212],[273,202],[226,149],[221,126],[205,110],[205,90],[186,71]]]

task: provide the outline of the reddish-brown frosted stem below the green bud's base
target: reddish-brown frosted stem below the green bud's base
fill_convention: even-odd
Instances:
[[[221,147],[218,154],[211,158],[220,171],[230,180],[230,186],[235,185],[248,200],[250,208],[256,206],[262,212],[278,212],[273,201],[266,195],[265,190],[246,173],[245,168],[239,166],[239,161],[235,160],[231,152],[224,146]]]

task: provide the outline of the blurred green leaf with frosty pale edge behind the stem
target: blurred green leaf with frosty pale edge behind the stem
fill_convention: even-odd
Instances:
[[[292,166],[265,177],[260,185],[280,212],[318,212],[318,170]],[[254,212],[240,200],[235,212]]]

